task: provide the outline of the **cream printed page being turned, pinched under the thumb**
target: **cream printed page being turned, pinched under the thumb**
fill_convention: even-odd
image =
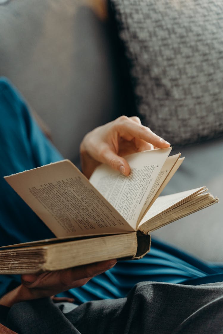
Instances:
[[[90,182],[134,228],[151,188],[172,148],[126,156],[131,173],[124,176],[107,165],[96,168]]]

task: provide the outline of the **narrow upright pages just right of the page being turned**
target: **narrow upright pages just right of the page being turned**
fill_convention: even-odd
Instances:
[[[162,166],[155,183],[152,186],[151,191],[149,192],[146,201],[142,207],[142,211],[140,213],[140,216],[138,218],[137,226],[142,219],[142,217],[145,215],[145,213],[149,210],[149,208],[152,206],[152,203],[156,200],[156,198],[159,196],[159,194],[162,192],[164,187],[168,184],[172,176],[175,174],[179,166],[182,164],[182,161],[180,164],[177,164],[179,161],[179,158],[181,156],[181,153],[172,155],[171,157],[168,157],[166,161],[164,162],[164,165]],[[176,166],[177,165],[177,166]]]

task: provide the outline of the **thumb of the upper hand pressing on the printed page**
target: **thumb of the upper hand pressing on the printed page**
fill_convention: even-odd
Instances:
[[[121,172],[125,176],[128,176],[130,173],[130,167],[127,161],[110,149],[104,153],[103,163]]]

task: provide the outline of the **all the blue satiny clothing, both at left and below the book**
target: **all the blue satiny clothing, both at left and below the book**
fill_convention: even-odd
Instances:
[[[53,233],[23,202],[3,176],[62,160],[30,116],[24,99],[5,79],[0,78],[0,245],[53,237]],[[192,256],[152,240],[151,251],[138,261],[122,261],[85,286],[61,295],[76,302],[124,297],[138,282],[169,283],[223,280],[222,268],[203,263]],[[215,281],[215,282],[216,282]],[[20,283],[15,275],[0,276],[0,295]],[[208,282],[207,282],[208,283]]]

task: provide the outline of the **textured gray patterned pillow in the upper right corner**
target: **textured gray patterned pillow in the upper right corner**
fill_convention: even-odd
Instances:
[[[223,134],[223,2],[111,0],[139,116],[171,144]]]

